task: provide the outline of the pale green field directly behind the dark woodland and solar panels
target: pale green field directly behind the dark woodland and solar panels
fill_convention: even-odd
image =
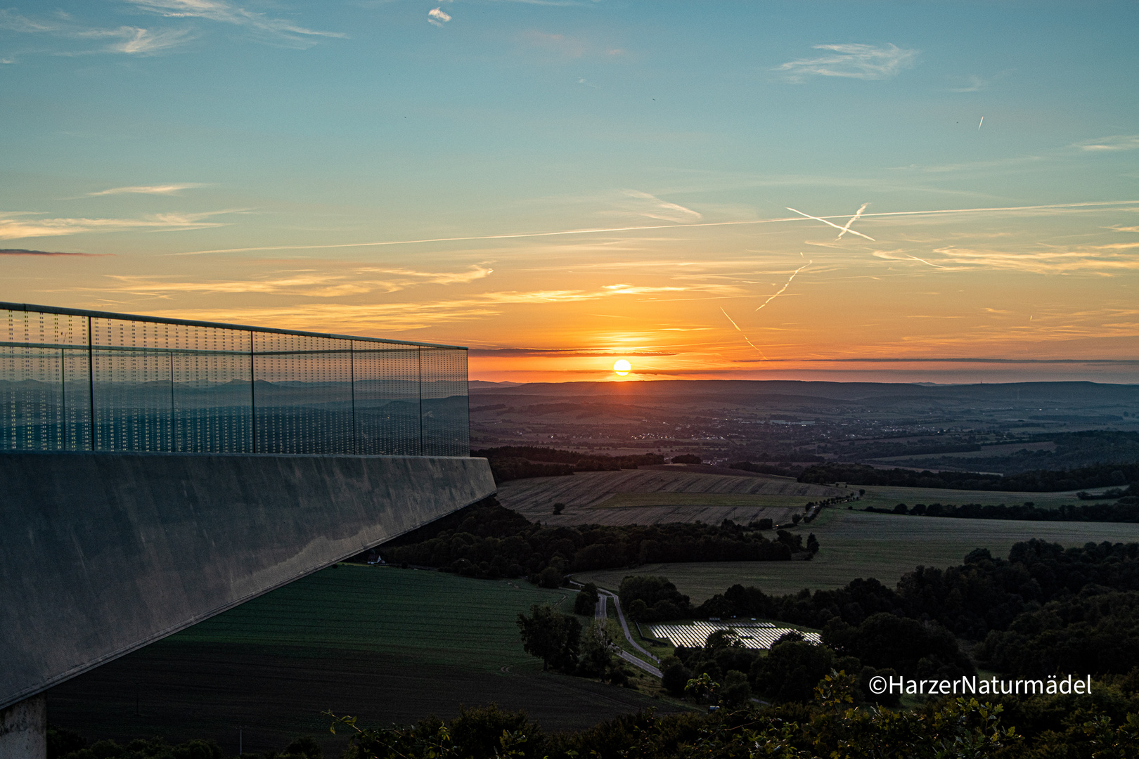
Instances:
[[[976,547],[1008,555],[1014,543],[1032,537],[1065,546],[1089,541],[1139,542],[1139,525],[900,517],[847,511],[843,506],[823,510],[817,521],[795,531],[804,536],[814,533],[819,538],[821,550],[812,561],[645,564],[636,574],[663,575],[699,603],[736,583],[772,594],[839,587],[855,577],[875,577],[892,587],[918,564],[959,564]],[[628,569],[612,569],[579,572],[575,577],[615,591],[629,574]]]

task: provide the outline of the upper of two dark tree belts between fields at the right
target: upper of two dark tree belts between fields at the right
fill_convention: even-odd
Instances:
[[[982,472],[920,471],[911,469],[875,469],[867,464],[826,463],[810,467],[798,476],[800,482],[849,482],[891,487],[929,487],[956,490],[1003,490],[1056,493],[1090,487],[1112,487],[1139,481],[1139,461],[1096,464],[1079,469],[1036,469],[1001,477]]]

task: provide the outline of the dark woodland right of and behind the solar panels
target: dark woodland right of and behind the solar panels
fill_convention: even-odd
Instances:
[[[855,579],[830,591],[772,596],[734,585],[693,614],[821,628],[836,653],[907,675],[968,671],[953,636],[980,642],[978,661],[997,671],[1039,676],[1059,667],[1105,675],[1139,666],[1139,634],[1130,632],[1139,624],[1137,604],[1139,544],[1064,548],[1032,539],[1014,545],[1007,560],[978,548],[957,567],[918,567],[894,589]],[[894,632],[880,634],[886,629]],[[901,651],[892,638],[917,647]],[[863,649],[859,641],[875,643]]]

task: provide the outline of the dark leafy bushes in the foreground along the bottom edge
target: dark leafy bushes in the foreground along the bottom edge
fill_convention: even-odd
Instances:
[[[648,710],[563,733],[495,706],[382,728],[334,717],[334,728],[352,736],[343,759],[1114,759],[1139,751],[1139,699],[1118,685],[1103,699],[1041,698],[1027,709],[945,698],[900,710],[860,703],[857,677],[843,671],[825,675],[802,702],[770,707],[732,708],[724,698],[731,686],[694,685],[721,708],[664,717]]]

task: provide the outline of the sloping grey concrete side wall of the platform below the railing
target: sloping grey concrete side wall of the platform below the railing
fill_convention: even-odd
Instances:
[[[0,708],[492,493],[485,459],[0,454]]]

